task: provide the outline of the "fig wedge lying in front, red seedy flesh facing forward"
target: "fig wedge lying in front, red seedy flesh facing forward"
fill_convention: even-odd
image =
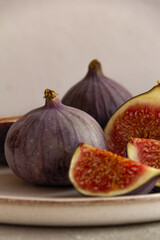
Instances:
[[[74,152],[69,178],[77,191],[88,196],[149,193],[160,170],[82,143]]]

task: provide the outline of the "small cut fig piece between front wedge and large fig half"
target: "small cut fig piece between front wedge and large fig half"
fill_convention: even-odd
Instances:
[[[132,138],[127,143],[127,156],[149,167],[160,169],[160,141]],[[156,186],[160,187],[160,179],[158,179]]]

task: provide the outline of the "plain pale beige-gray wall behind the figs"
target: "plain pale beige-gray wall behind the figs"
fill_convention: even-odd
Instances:
[[[160,79],[159,0],[0,0],[0,117],[64,93],[97,58],[133,95]]]

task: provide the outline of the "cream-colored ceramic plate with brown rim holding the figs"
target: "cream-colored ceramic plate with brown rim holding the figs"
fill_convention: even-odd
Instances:
[[[160,220],[160,194],[83,197],[72,187],[38,187],[0,167],[0,223],[98,226]]]

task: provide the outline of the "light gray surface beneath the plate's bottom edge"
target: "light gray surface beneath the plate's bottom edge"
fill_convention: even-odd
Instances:
[[[97,228],[46,228],[0,225],[1,240],[159,240],[160,222]]]

